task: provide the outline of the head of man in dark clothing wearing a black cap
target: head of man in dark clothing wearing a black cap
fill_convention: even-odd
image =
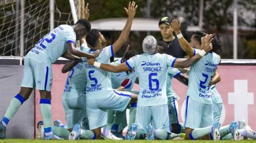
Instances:
[[[170,22],[172,22],[172,19],[169,17],[163,17],[158,22],[162,38],[169,38],[173,35],[173,29],[170,26]]]

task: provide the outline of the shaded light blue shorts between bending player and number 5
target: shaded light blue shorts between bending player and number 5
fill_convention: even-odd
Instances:
[[[62,104],[65,110],[65,120],[68,129],[73,128],[75,124],[80,124],[83,129],[89,129],[86,112],[86,94],[82,93],[74,98],[65,98],[65,95],[63,95]]]

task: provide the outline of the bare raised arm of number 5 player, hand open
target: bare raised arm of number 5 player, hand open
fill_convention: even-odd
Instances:
[[[114,53],[117,53],[117,51],[123,46],[123,44],[127,41],[127,38],[129,37],[130,30],[131,30],[131,24],[133,23],[133,18],[136,13],[137,5],[135,5],[135,2],[129,2],[128,7],[125,7],[125,11],[128,15],[125,27],[123,28],[119,38],[117,41],[113,44],[113,51]]]

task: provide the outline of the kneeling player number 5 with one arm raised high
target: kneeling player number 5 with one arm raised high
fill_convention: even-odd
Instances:
[[[128,15],[126,25],[119,38],[113,45],[104,47],[97,61],[110,63],[110,57],[116,53],[129,37],[131,24],[135,16],[137,6],[135,2],[129,2],[125,8]],[[86,36],[86,41],[90,47],[90,52],[102,49],[102,40],[99,38],[99,30],[92,29]],[[123,111],[131,102],[137,102],[137,95],[129,92],[119,92],[111,87],[110,73],[97,69],[86,64],[87,86],[86,86],[86,106],[90,129],[100,139],[100,128],[107,124],[107,109]],[[72,132],[80,132],[80,129],[73,129]],[[104,136],[108,136],[104,134]],[[76,138],[76,137],[75,137]]]

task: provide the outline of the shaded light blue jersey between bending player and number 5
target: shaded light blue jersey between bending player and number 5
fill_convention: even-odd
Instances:
[[[88,52],[90,49],[88,47],[81,47],[81,50]],[[83,58],[83,62],[77,63],[77,65],[75,65],[68,73],[63,94],[64,98],[77,97],[86,92],[86,64],[87,59]]]

